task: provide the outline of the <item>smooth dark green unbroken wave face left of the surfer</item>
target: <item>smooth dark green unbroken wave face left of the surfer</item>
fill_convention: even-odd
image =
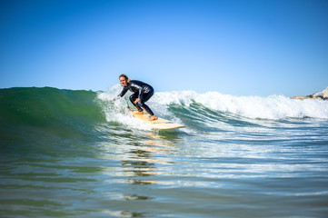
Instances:
[[[5,144],[57,144],[85,140],[105,122],[91,91],[55,88],[0,90],[0,137]]]

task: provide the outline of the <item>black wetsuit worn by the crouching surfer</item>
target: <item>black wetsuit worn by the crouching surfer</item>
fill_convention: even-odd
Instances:
[[[154,88],[149,85],[145,84],[141,81],[137,80],[130,80],[130,82],[127,83],[127,86],[123,87],[122,93],[119,94],[120,97],[123,97],[126,92],[130,90],[134,94],[130,96],[130,101],[132,104],[134,104],[134,101],[139,98],[139,102],[137,104],[134,104],[134,106],[138,109],[139,112],[143,111],[143,108],[148,114],[154,115],[152,110],[147,106],[147,104],[144,104],[146,101],[148,101],[154,94]],[[142,107],[142,108],[141,108]]]

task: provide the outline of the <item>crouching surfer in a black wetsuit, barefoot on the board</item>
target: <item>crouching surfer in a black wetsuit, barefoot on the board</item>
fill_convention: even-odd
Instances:
[[[133,92],[131,94],[130,101],[138,112],[136,114],[144,114],[144,110],[151,115],[150,121],[157,120],[157,117],[154,115],[153,111],[149,108],[147,104],[144,104],[148,101],[154,94],[154,88],[150,84],[145,84],[138,80],[130,80],[125,74],[119,76],[120,83],[123,86],[121,94],[118,96],[123,97],[128,90]],[[143,109],[144,108],[144,109]]]

